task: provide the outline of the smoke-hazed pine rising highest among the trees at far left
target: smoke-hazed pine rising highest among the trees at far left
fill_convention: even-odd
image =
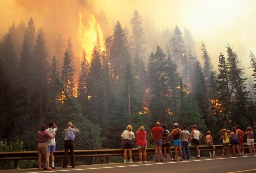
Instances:
[[[26,28],[25,34],[29,44],[29,50],[32,51],[35,44],[35,24],[32,17],[28,21],[28,27]]]

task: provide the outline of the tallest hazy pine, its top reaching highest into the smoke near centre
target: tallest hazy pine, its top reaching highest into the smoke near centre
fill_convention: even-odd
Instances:
[[[143,58],[144,50],[143,44],[145,44],[144,30],[142,27],[143,19],[137,10],[133,11],[133,18],[130,20],[132,27],[132,53],[133,55],[137,54],[138,58]]]

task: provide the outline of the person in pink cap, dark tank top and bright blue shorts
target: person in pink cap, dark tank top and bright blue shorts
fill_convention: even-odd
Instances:
[[[171,139],[172,139],[172,135],[173,135],[173,141],[172,141],[172,144],[174,146],[174,149],[175,149],[175,160],[173,161],[178,161],[178,148],[179,148],[179,152],[180,152],[180,155],[181,155],[181,159],[180,161],[183,161],[183,158],[182,158],[182,150],[181,150],[181,130],[178,128],[178,123],[174,123],[174,129],[171,131]]]

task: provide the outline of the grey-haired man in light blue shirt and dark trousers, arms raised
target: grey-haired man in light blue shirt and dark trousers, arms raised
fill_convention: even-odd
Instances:
[[[65,157],[63,161],[63,167],[67,168],[68,166],[68,150],[70,150],[71,155],[71,166],[72,168],[75,168],[75,133],[79,133],[80,131],[75,127],[74,124],[71,122],[68,122],[67,129],[63,130],[62,135],[65,136],[64,141],[64,149],[65,149]]]

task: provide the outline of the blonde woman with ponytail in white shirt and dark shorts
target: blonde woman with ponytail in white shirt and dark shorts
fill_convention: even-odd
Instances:
[[[135,139],[134,133],[131,131],[132,127],[131,125],[128,125],[127,130],[123,132],[122,136],[122,145],[124,149],[124,163],[126,163],[126,158],[127,158],[127,150],[129,149],[129,157],[130,157],[130,163],[133,163],[132,161],[132,151],[131,149],[133,148],[132,140]]]

